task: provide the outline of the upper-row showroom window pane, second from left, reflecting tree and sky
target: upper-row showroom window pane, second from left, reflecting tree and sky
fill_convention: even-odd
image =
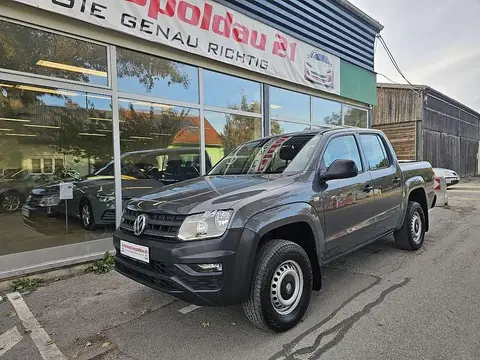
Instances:
[[[194,66],[118,48],[117,73],[120,91],[198,103]]]

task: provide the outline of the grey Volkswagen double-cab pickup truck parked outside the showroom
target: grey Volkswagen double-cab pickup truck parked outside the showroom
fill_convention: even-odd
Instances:
[[[116,270],[193,304],[243,304],[255,325],[286,331],[323,265],[390,234],[422,247],[433,176],[427,162],[400,165],[375,130],[251,141],[206,176],[133,199],[113,238]]]

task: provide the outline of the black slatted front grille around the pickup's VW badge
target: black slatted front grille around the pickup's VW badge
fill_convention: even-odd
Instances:
[[[185,220],[185,215],[144,213],[125,209],[120,229],[134,235],[133,223],[139,215],[146,216],[145,230],[138,237],[149,240],[176,241],[180,226]]]

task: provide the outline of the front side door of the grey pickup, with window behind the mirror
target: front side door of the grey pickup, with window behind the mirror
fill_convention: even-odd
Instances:
[[[371,176],[360,156],[358,138],[354,134],[332,138],[324,151],[320,168],[328,169],[338,159],[353,160],[358,175],[350,179],[329,180],[319,184],[324,213],[326,259],[337,257],[374,236],[374,197]]]

